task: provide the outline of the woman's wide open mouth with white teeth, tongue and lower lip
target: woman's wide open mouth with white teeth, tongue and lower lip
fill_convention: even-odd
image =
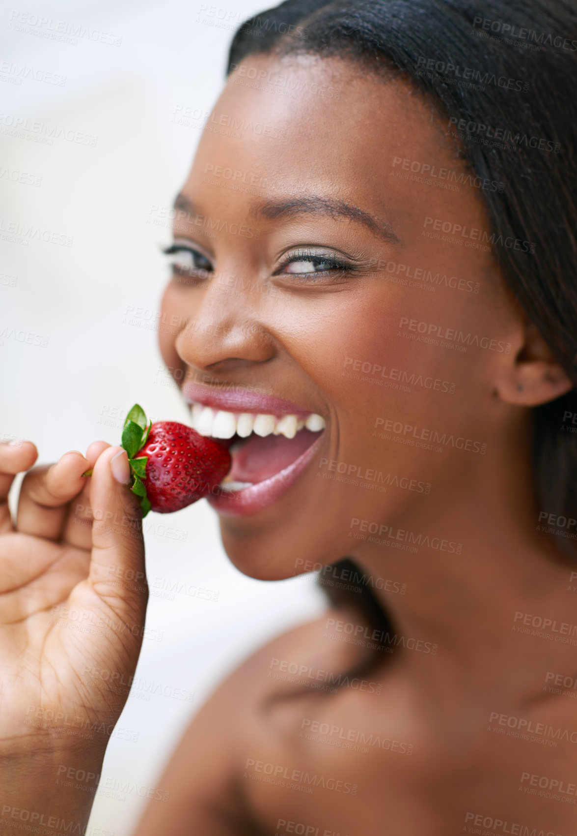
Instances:
[[[190,426],[218,439],[232,456],[210,504],[219,512],[246,514],[275,502],[296,481],[316,451],[325,420],[312,412],[233,412],[193,402]]]

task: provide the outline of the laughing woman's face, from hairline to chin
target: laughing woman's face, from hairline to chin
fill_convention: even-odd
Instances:
[[[440,509],[490,489],[509,421],[493,381],[519,321],[478,248],[479,186],[500,184],[468,177],[446,130],[407,85],[341,59],[250,57],[215,105],[175,219],[175,260],[203,269],[166,288],[183,327],[161,334],[164,361],[188,400],[326,422],[251,436],[236,481],[272,481],[210,499],[245,573],[353,554],[360,521],[451,539]]]

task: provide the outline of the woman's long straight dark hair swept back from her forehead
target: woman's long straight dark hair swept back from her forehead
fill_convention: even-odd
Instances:
[[[342,56],[386,77],[400,74],[463,128],[456,153],[477,176],[504,184],[502,193],[483,190],[500,273],[577,385],[575,7],[286,0],[237,30],[227,74],[251,54],[270,53]],[[495,131],[505,141],[489,141]],[[535,498],[542,512],[565,520],[577,518],[577,434],[564,424],[567,413],[577,416],[575,389],[533,410]],[[557,540],[573,553],[563,533]]]

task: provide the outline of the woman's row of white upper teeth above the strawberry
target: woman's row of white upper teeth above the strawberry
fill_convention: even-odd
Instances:
[[[282,435],[294,438],[296,433],[306,426],[311,432],[318,432],[325,427],[325,419],[321,415],[312,413],[306,419],[299,419],[296,415],[261,415],[261,413],[234,412],[213,410],[210,406],[195,404],[192,407],[190,426],[201,436],[213,438],[241,438],[250,436],[252,432],[257,436]]]

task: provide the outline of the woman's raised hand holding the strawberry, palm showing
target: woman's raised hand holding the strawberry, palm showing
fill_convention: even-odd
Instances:
[[[84,740],[104,755],[128,696],[109,681],[134,675],[143,638],[139,503],[125,452],[97,441],[27,473],[14,525],[8,490],[37,456],[0,444],[0,757]]]

